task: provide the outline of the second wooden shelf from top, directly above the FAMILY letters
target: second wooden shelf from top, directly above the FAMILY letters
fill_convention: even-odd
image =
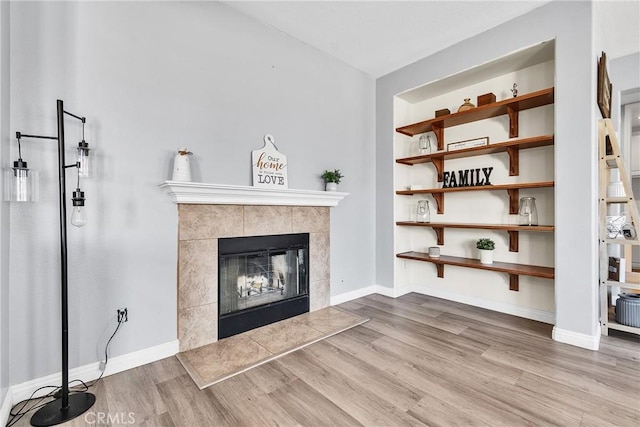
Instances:
[[[519,150],[527,148],[545,147],[553,145],[553,135],[534,136],[532,138],[516,139],[512,141],[498,142],[482,147],[465,148],[455,151],[438,151],[436,153],[425,154],[422,156],[405,157],[397,159],[396,163],[403,165],[417,165],[421,163],[433,163],[438,173],[438,182],[442,182],[444,173],[444,161],[446,159],[460,159],[463,157],[480,156],[482,154],[495,154],[506,152],[509,154],[509,175],[517,176],[520,174],[520,156]]]

